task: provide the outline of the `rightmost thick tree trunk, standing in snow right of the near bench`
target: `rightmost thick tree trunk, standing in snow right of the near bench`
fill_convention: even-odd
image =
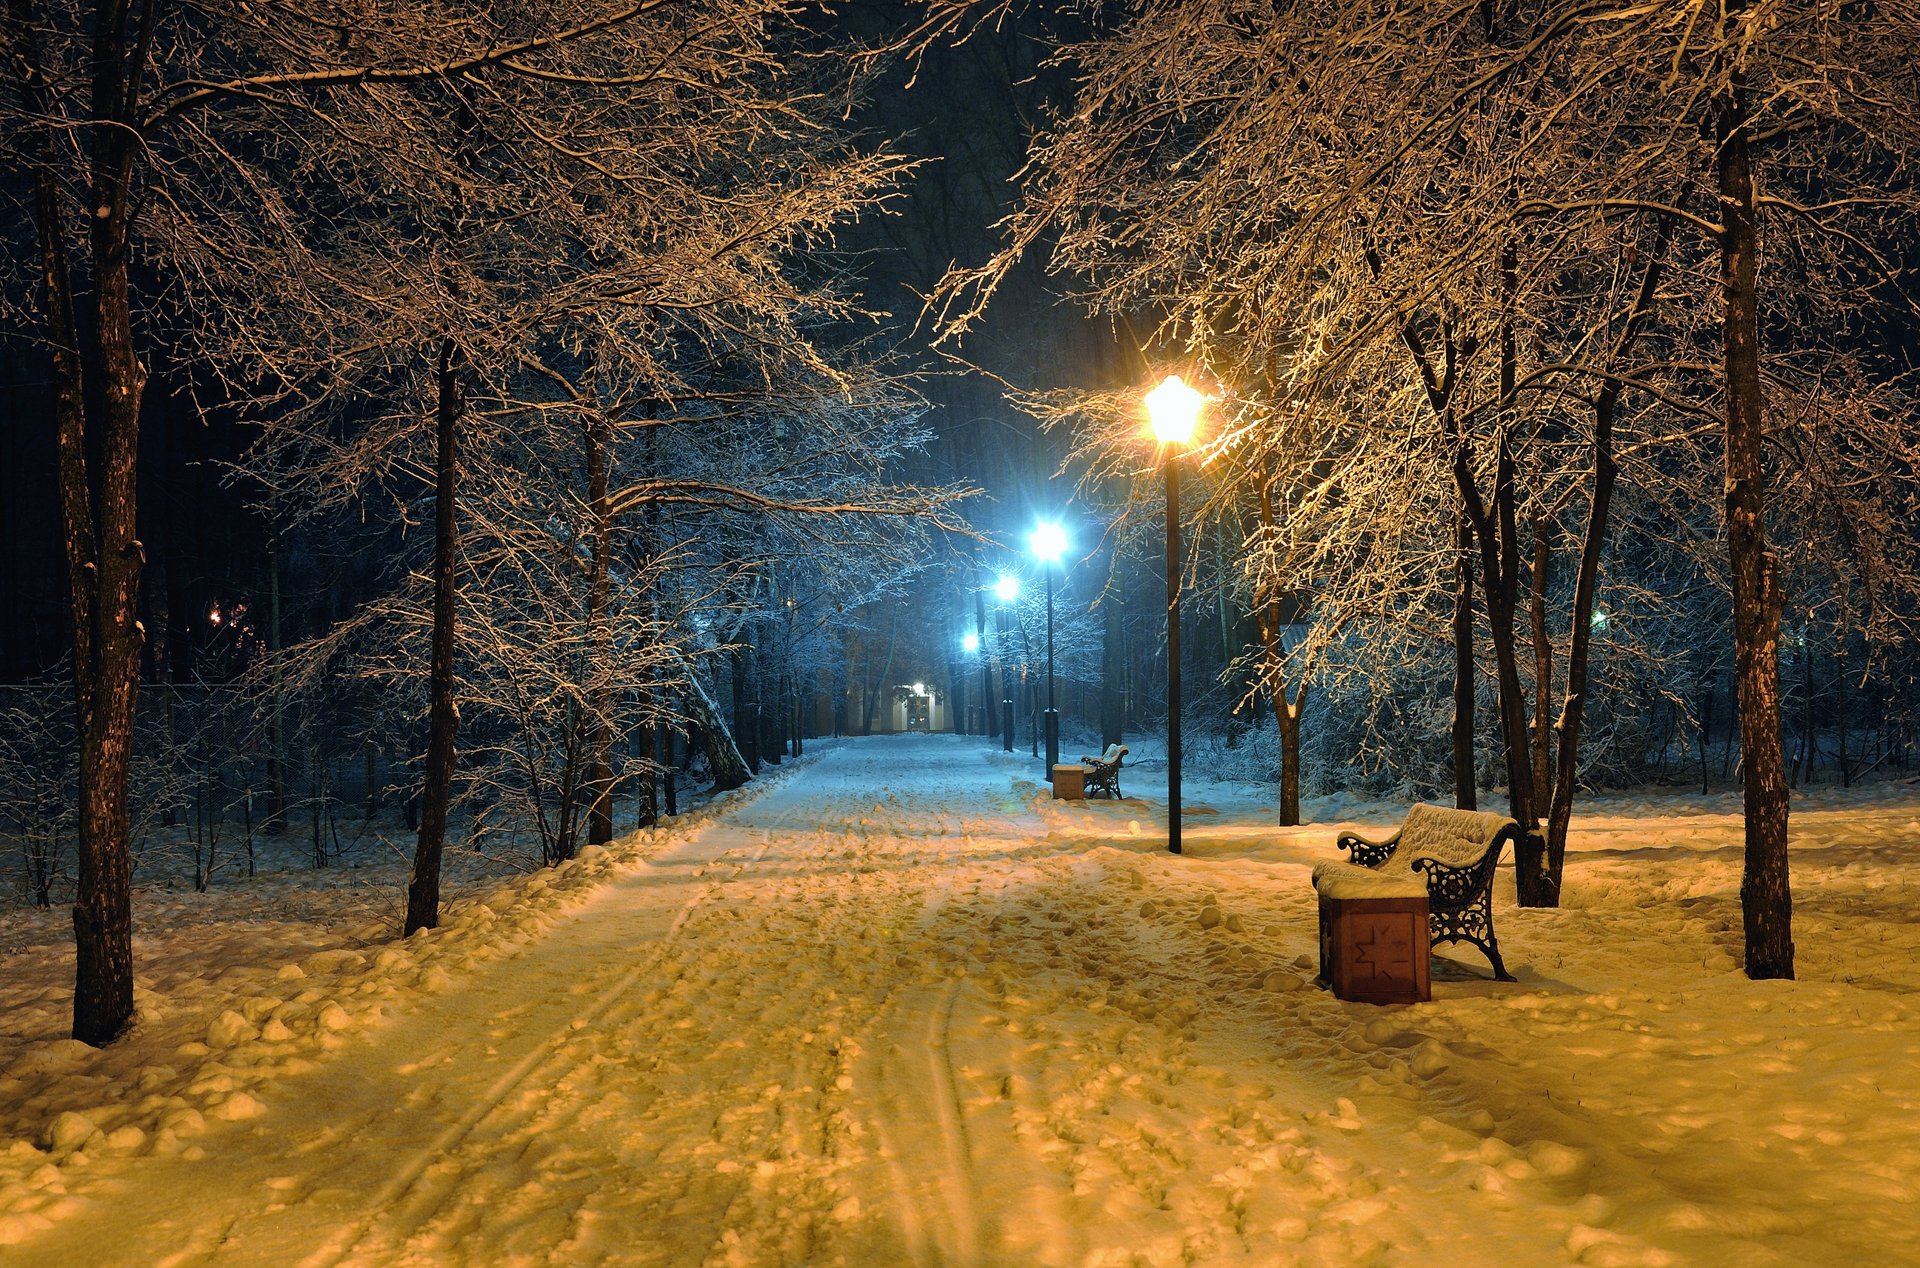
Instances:
[[[1734,6],[1728,6],[1734,8]],[[1766,551],[1761,402],[1761,229],[1745,83],[1736,69],[1715,104],[1720,290],[1726,298],[1726,553],[1734,578],[1734,674],[1747,847],[1740,905],[1749,978],[1793,976],[1788,784],[1780,745],[1780,590]]]

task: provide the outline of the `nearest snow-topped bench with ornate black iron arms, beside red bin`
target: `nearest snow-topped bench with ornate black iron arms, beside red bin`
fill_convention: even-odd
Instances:
[[[1494,938],[1494,868],[1519,834],[1517,822],[1494,811],[1415,803],[1384,841],[1342,832],[1336,845],[1352,863],[1317,865],[1313,888],[1329,899],[1425,895],[1430,945],[1471,941],[1496,980],[1513,982]]]

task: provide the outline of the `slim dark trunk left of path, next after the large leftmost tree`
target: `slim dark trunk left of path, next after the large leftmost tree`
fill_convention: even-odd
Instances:
[[[453,500],[459,473],[455,428],[463,402],[451,338],[440,344],[436,378],[440,402],[434,411],[434,642],[426,671],[430,701],[426,770],[420,782],[420,836],[413,847],[413,876],[407,882],[405,934],[440,924],[440,857],[447,843],[453,744],[459,728],[453,703],[453,599],[459,548]]]

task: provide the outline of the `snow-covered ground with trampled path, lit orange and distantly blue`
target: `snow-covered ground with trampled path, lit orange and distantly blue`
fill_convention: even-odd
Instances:
[[[0,914],[0,1262],[1920,1262],[1914,788],[1795,805],[1797,982],[1738,970],[1738,803],[1661,793],[1582,807],[1563,909],[1501,876],[1519,984],[1379,1009],[1308,868],[1400,807],[1188,784],[1171,857],[1152,772],[816,753],[405,943],[388,888],[142,893],[104,1053]]]

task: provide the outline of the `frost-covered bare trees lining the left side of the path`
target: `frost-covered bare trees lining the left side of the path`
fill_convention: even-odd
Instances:
[[[255,609],[246,690],[271,813],[290,720],[361,701],[349,734],[422,755],[407,932],[463,797],[515,801],[553,859],[611,836],[666,734],[745,778],[716,669],[785,626],[753,665],[778,717],[829,613],[956,526],[962,490],[891,475],[918,400],[831,250],[906,163],[841,127],[858,67],[806,8],[8,6],[6,304],[54,384],[75,632],[77,1037],[132,1009],[150,375],[257,428],[234,486],[282,544],[380,551],[315,638],[278,590]]]

